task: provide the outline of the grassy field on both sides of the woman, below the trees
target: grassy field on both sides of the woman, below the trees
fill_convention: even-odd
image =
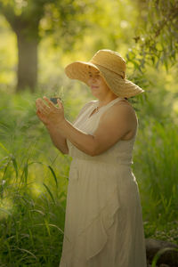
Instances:
[[[71,158],[53,147],[37,119],[35,99],[39,95],[1,93],[1,267],[54,267],[60,262]],[[64,97],[70,120],[84,103],[79,95],[71,92]],[[146,238],[176,244],[177,132],[178,126],[171,120],[142,119],[133,166],[141,192]]]

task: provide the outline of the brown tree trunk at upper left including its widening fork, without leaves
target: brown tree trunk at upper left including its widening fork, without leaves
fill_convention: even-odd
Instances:
[[[43,16],[43,6],[40,8],[40,12],[34,10],[34,13],[32,12],[31,15],[28,13],[28,16],[27,11],[22,12],[20,16],[16,15],[12,4],[0,2],[0,9],[17,36],[18,69],[16,91],[28,88],[31,92],[35,92],[37,84],[37,45],[40,40],[38,26]]]

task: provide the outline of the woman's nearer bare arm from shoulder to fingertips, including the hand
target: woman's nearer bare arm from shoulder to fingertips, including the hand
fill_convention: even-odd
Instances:
[[[49,116],[49,128],[53,131],[55,125],[56,134],[60,133],[69,142],[73,143],[78,150],[82,150],[90,156],[96,156],[109,150],[125,134],[133,130],[134,110],[131,106],[117,103],[110,107],[100,119],[97,130],[93,135],[85,134],[69,123],[64,117],[63,106],[58,101],[59,108],[53,106],[53,103],[44,97],[49,107],[40,101],[42,112]]]

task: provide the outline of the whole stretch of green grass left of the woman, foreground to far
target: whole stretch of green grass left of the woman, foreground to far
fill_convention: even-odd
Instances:
[[[0,266],[58,266],[70,158],[53,148],[29,93],[2,93]]]

